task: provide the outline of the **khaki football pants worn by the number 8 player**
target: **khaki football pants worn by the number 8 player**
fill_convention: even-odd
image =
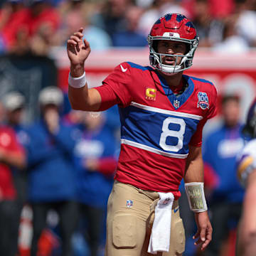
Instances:
[[[114,181],[107,203],[107,243],[105,256],[149,256],[147,252],[159,194]],[[171,210],[169,252],[157,256],[182,255],[185,233],[179,215],[178,201]],[[156,255],[154,255],[156,256]]]

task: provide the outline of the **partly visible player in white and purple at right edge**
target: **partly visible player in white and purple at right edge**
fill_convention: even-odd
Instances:
[[[256,255],[256,99],[247,114],[243,134],[250,139],[238,155],[238,178],[246,187],[238,230],[238,256]]]

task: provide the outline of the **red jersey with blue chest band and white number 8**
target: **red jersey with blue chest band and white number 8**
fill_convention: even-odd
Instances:
[[[183,75],[175,95],[153,68],[122,63],[96,89],[100,110],[118,104],[121,151],[114,178],[144,190],[180,196],[188,145],[201,146],[203,125],[216,112],[215,86]]]

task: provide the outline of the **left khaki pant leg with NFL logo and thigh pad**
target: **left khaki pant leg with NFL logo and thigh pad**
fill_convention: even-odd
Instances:
[[[107,204],[105,256],[140,256],[151,200],[132,186],[114,183]]]

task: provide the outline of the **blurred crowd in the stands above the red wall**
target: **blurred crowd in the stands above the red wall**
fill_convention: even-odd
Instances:
[[[0,7],[2,54],[47,55],[80,27],[92,49],[145,47],[152,24],[166,13],[190,18],[201,47],[256,46],[255,0],[4,0]]]

